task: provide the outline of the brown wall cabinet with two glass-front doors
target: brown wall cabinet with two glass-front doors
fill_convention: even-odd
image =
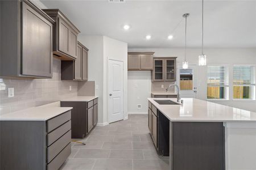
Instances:
[[[176,57],[154,58],[153,82],[176,80]]]

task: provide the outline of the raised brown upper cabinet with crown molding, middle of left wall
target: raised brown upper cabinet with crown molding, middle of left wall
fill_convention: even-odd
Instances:
[[[63,60],[77,59],[79,29],[59,9],[44,9],[43,11],[55,20],[53,54]]]

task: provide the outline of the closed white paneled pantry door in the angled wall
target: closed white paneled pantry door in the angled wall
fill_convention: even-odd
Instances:
[[[123,62],[109,59],[109,123],[123,120]]]

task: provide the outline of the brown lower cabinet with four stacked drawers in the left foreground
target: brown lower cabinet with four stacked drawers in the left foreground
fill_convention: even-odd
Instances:
[[[0,169],[59,169],[71,154],[68,114],[46,121],[1,121]]]

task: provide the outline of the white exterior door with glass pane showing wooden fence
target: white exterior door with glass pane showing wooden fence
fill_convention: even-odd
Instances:
[[[197,94],[197,65],[188,65],[182,69],[177,65],[177,84],[180,87],[180,96],[183,98],[196,98]]]

